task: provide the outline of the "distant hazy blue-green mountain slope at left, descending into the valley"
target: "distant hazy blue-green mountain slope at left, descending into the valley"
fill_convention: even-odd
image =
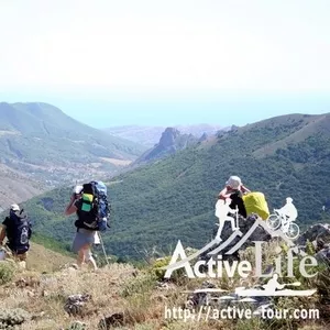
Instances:
[[[0,103],[0,161],[42,182],[113,174],[145,147],[82,124],[46,103]],[[121,162],[123,162],[121,164]],[[86,166],[89,167],[86,170]]]

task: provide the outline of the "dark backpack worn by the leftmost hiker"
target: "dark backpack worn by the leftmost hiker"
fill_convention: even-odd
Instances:
[[[30,250],[30,242],[32,235],[32,224],[24,210],[20,213],[10,211],[10,223],[7,230],[8,248],[16,253],[23,254]]]

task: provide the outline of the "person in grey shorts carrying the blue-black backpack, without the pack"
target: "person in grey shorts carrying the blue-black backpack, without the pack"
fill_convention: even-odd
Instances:
[[[76,213],[78,218],[75,222],[77,232],[73,243],[73,250],[75,253],[78,254],[77,257],[78,266],[81,267],[82,264],[88,263],[94,267],[94,270],[97,270],[98,266],[96,264],[95,258],[92,257],[91,246],[92,244],[98,243],[98,233],[96,230],[85,226],[84,221],[81,220],[82,189],[84,189],[82,186],[76,186],[74,188],[73,195],[70,197],[70,201],[65,209],[65,215],[70,216],[73,213]]]

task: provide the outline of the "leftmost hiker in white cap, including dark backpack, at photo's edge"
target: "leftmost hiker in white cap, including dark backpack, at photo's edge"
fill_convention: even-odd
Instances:
[[[2,222],[0,232],[0,246],[7,238],[6,245],[12,252],[14,258],[21,262],[25,267],[28,251],[30,250],[30,239],[32,235],[32,226],[24,210],[16,204],[10,207],[9,217]]]

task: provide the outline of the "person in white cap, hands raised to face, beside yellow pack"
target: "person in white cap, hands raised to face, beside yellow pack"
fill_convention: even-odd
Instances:
[[[219,193],[218,199],[227,200],[231,199],[230,208],[239,209],[239,213],[246,218],[246,210],[242,196],[251,193],[243,184],[240,177],[231,176],[226,183],[226,187]]]

